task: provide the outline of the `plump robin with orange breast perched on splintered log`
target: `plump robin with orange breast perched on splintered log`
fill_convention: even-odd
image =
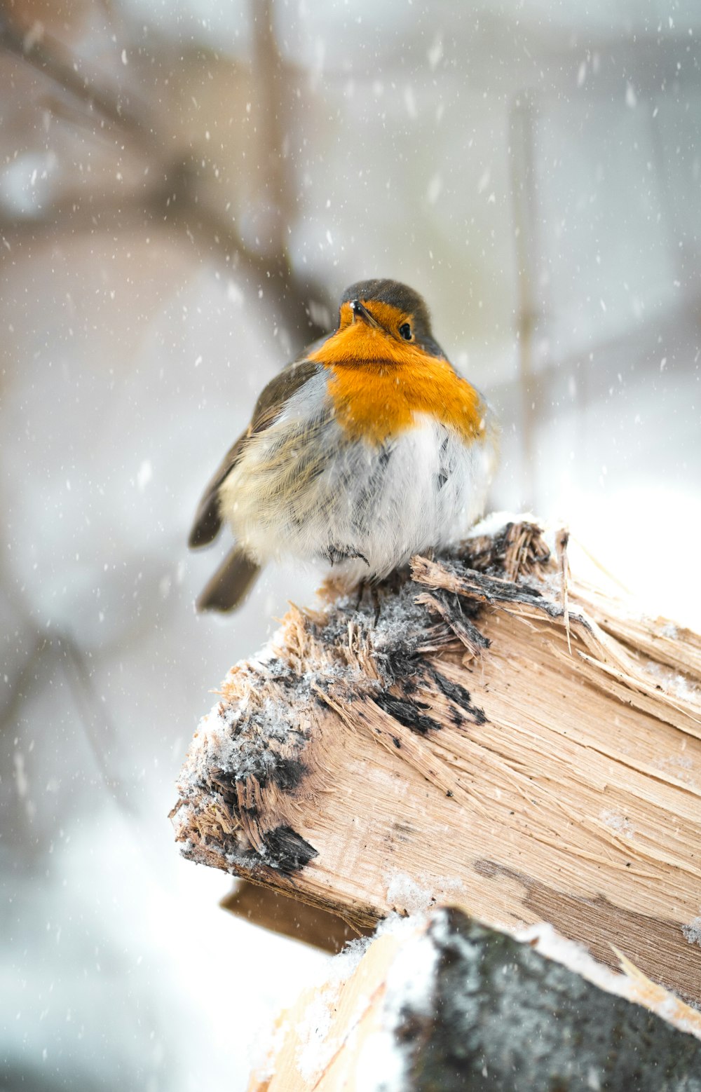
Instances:
[[[261,568],[324,562],[348,590],[456,545],[484,513],[499,426],[450,364],[421,296],[389,278],[341,296],[335,329],[261,393],[210,479],[189,545],[235,545],[200,595],[227,612]]]

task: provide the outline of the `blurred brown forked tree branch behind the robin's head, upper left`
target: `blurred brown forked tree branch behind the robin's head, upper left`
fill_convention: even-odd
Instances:
[[[207,200],[197,164],[181,151],[174,154],[158,111],[138,91],[110,86],[104,76],[80,74],[84,62],[69,47],[40,26],[24,32],[7,16],[0,16],[0,50],[15,62],[34,69],[60,93],[49,109],[73,121],[90,119],[93,139],[110,131],[119,133],[116,158],[129,154],[141,165],[144,185],[127,195],[120,192],[90,194],[63,192],[46,203],[36,215],[0,212],[0,236],[12,251],[22,241],[40,242],[76,233],[165,228],[177,237],[187,236],[198,260],[214,254],[229,270],[243,274],[243,286],[263,306],[271,325],[283,325],[295,345],[301,347],[324,332],[309,312],[309,301],[328,302],[325,290],[300,277],[293,269],[286,247],[286,227],[292,215],[294,183],[288,177],[283,153],[282,117],[285,82],[284,64],[274,38],[271,0],[252,2],[254,86],[259,94],[260,124],[256,128],[261,189],[266,198],[266,232],[259,234],[252,248],[241,237],[236,221],[223,215]],[[60,105],[59,105],[60,104]],[[86,117],[87,115],[87,117]],[[249,169],[240,164],[240,169]]]

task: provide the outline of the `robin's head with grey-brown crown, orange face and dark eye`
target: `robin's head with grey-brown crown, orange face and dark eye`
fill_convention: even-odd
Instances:
[[[399,281],[356,281],[343,293],[338,330],[364,323],[396,340],[418,345],[431,356],[444,353],[431,332],[428,308],[419,294]]]

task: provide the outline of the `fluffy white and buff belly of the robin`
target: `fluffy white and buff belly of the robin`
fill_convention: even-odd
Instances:
[[[307,413],[285,414],[251,438],[222,486],[222,511],[260,562],[333,551],[354,580],[382,578],[459,542],[483,514],[495,465],[486,436],[466,444],[420,415],[381,448],[347,444],[333,419],[310,429]]]

